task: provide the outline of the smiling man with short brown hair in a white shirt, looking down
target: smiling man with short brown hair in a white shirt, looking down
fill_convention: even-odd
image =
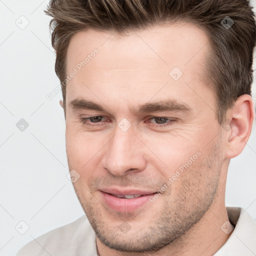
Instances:
[[[66,152],[86,214],[18,255],[255,255],[225,207],[254,118],[247,0],[52,0]]]

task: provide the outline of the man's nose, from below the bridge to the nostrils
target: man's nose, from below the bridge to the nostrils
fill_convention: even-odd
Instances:
[[[131,127],[126,131],[116,127],[114,136],[106,144],[102,166],[116,176],[141,171],[146,166],[143,148]]]

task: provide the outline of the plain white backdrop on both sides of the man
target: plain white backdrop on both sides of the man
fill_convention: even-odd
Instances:
[[[61,92],[46,99],[59,84],[50,44],[50,17],[43,13],[47,2],[0,1],[1,256],[15,255],[26,242],[84,214],[66,177],[65,123],[58,103]],[[29,24],[20,29],[15,22]],[[21,118],[29,124],[24,131],[16,127]],[[255,163],[254,123],[245,149],[231,160],[226,187],[226,205],[243,207],[254,218]],[[23,235],[15,229],[21,220],[29,226]],[[25,230],[25,224],[20,225]]]

